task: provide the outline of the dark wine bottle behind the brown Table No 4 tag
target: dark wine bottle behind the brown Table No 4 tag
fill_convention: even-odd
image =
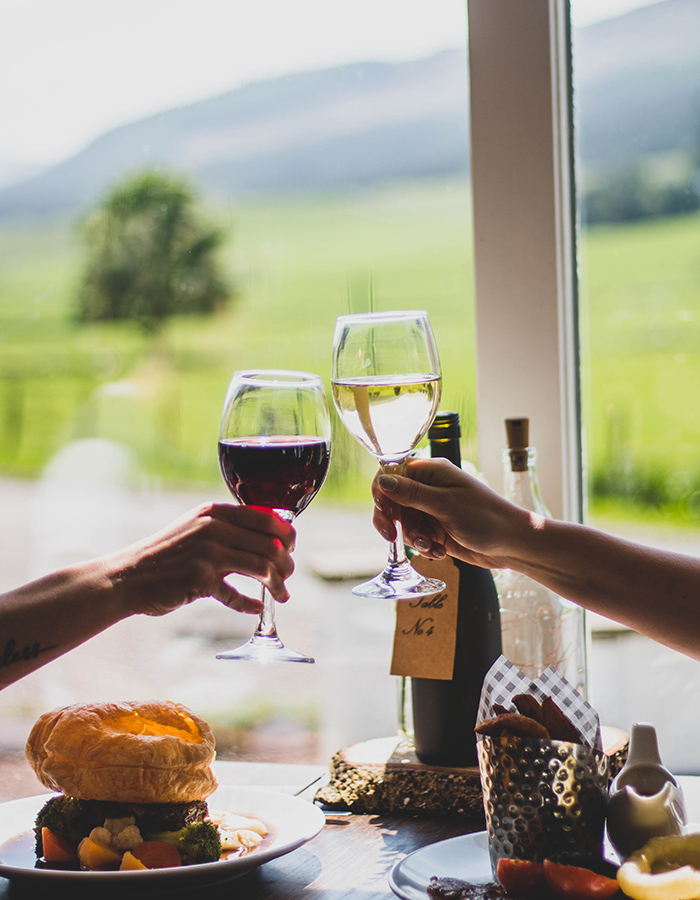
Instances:
[[[438,413],[428,432],[431,456],[461,466],[459,438],[459,414]],[[454,669],[447,681],[411,678],[415,751],[428,765],[475,766],[481,687],[501,653],[498,594],[488,569],[449,556],[440,565],[458,570]]]

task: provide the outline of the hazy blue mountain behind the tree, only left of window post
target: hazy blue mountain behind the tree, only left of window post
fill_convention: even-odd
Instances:
[[[0,191],[0,215],[84,207],[115,178],[154,165],[219,196],[463,170],[467,93],[458,51],[251,83],[108,132]]]

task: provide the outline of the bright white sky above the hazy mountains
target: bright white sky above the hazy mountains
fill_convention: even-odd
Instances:
[[[573,0],[572,15],[652,2]],[[0,164],[51,165],[250,80],[455,46],[466,0],[0,0],[0,27]]]

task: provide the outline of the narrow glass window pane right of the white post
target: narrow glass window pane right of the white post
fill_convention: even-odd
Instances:
[[[700,8],[574,0],[572,12],[588,518],[696,554]],[[667,765],[692,771],[697,733],[671,710],[697,690],[697,663],[604,621],[594,629],[605,721],[654,722]]]

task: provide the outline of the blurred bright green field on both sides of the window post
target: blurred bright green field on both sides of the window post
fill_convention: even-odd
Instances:
[[[73,321],[74,222],[0,226],[0,472],[36,476],[71,440],[104,437],[170,485],[218,482],[219,415],[248,366],[330,374],[337,315],[428,309],[443,407],[474,444],[469,188],[433,180],[214,211],[236,286],[209,319],[145,338]],[[584,401],[595,504],[700,517],[700,216],[598,228],[581,242]],[[334,430],[327,498],[365,496],[374,470]]]

